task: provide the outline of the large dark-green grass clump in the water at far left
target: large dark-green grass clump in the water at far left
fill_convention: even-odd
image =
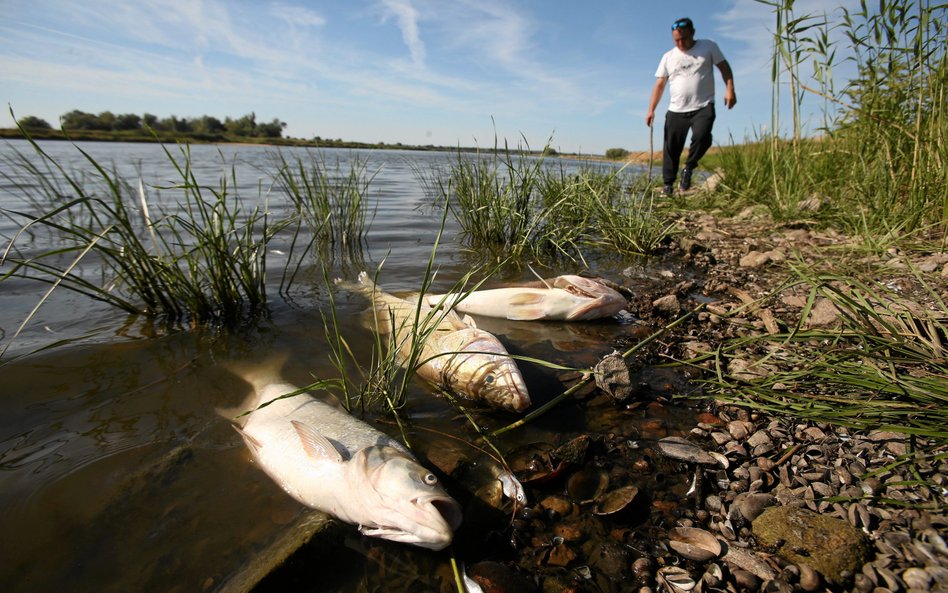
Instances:
[[[37,280],[50,291],[72,290],[169,324],[234,323],[267,310],[266,247],[285,222],[270,222],[265,196],[244,206],[231,189],[233,169],[231,181],[222,177],[217,188],[204,187],[188,147],[180,147],[179,157],[163,147],[179,181],[161,189],[180,201],[152,213],[143,184],[136,191],[81,148],[94,171],[89,177],[71,174],[32,146],[43,165],[22,169],[16,187],[32,191],[40,208],[5,211],[22,226],[0,257],[9,266],[0,281]],[[35,233],[61,246],[33,253],[27,239]]]

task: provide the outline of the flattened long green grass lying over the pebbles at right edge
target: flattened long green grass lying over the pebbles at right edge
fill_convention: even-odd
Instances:
[[[948,439],[948,307],[938,292],[928,288],[922,307],[855,273],[796,274],[794,284],[809,291],[800,322],[720,344],[708,357],[711,395],[816,422]],[[838,327],[804,325],[819,298],[839,310]],[[760,376],[731,374],[737,359]]]

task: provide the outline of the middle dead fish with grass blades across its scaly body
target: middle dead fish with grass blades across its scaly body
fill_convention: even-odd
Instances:
[[[415,372],[435,385],[491,406],[520,412],[530,406],[530,395],[516,362],[490,332],[462,320],[451,311],[435,311],[381,291],[368,274],[359,274],[357,290],[372,301],[375,327],[391,335],[404,362],[416,339],[423,340]]]

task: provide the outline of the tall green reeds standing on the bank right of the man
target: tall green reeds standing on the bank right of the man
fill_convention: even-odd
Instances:
[[[880,0],[801,15],[792,0],[758,1],[775,15],[773,116],[768,133],[724,151],[724,199],[863,236],[937,228],[944,239],[948,6]],[[837,90],[844,65],[855,74]],[[823,123],[821,135],[807,140],[802,112],[813,99]]]

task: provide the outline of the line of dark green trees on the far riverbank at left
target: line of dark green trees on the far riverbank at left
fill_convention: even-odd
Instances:
[[[102,131],[102,132],[174,132],[178,134],[197,135],[230,135],[246,138],[282,138],[286,122],[274,118],[270,122],[258,122],[254,113],[248,113],[236,119],[225,117],[224,121],[211,115],[201,117],[176,117],[174,115],[159,118],[156,115],[145,113],[115,114],[103,111],[98,115],[74,109],[59,118],[60,125],[69,131]],[[46,120],[28,115],[19,120],[20,126],[26,130],[51,130],[52,126]]]

